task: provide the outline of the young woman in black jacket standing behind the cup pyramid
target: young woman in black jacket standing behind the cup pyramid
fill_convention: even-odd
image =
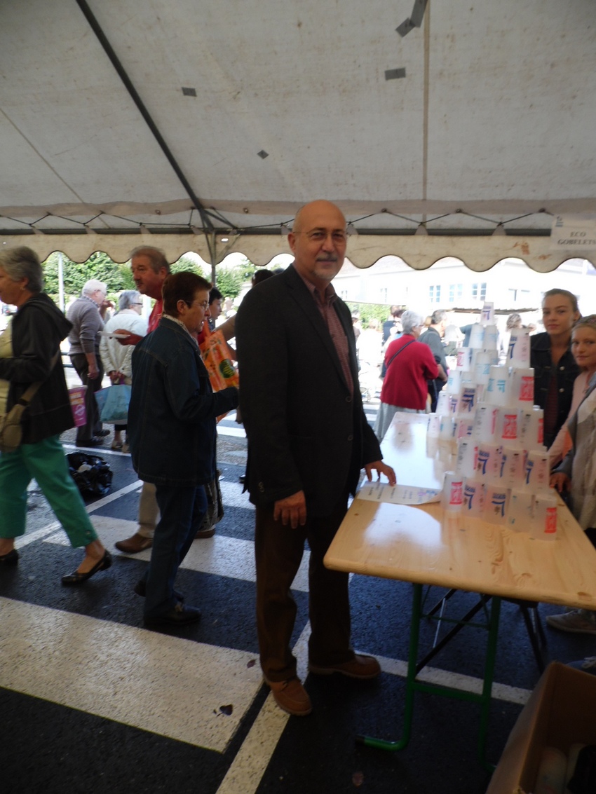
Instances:
[[[544,293],[544,333],[531,338],[530,366],[534,368],[534,403],[544,409],[544,444],[549,448],[567,419],[573,382],[579,367],[571,355],[571,329],[579,320],[578,301],[572,292]]]

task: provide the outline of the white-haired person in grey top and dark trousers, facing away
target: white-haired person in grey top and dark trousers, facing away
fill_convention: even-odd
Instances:
[[[102,430],[95,402],[95,392],[102,387],[103,379],[102,360],[99,357],[99,332],[103,331],[103,318],[99,308],[103,306],[106,292],[106,284],[90,279],[83,285],[81,297],[68,307],[66,314],[72,322],[72,330],[68,334],[72,366],[83,386],[87,386],[87,422],[76,429],[76,445],[79,447],[100,446],[103,444],[103,436],[110,432]]]

